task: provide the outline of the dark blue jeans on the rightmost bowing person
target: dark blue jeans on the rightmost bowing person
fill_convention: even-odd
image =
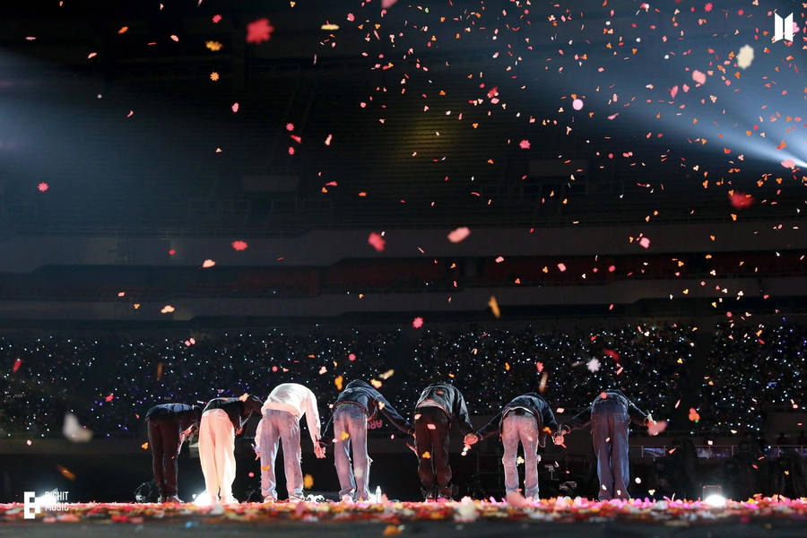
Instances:
[[[628,409],[615,399],[598,400],[591,411],[591,437],[600,479],[598,498],[630,499]]]

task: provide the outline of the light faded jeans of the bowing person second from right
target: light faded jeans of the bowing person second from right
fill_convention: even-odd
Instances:
[[[505,453],[501,463],[505,468],[505,490],[518,491],[518,442],[524,447],[524,496],[538,498],[538,421],[533,415],[508,413],[501,421],[501,442]]]

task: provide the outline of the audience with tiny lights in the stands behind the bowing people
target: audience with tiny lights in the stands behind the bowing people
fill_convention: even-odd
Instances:
[[[419,333],[274,328],[187,340],[0,337],[0,435],[58,437],[65,412],[74,412],[96,437],[134,437],[153,404],[264,398],[283,382],[309,386],[327,416],[339,387],[357,378],[379,386],[402,412],[438,380],[460,388],[472,414],[493,414],[531,391],[571,413],[619,386],[656,418],[686,417],[692,405],[698,430],[759,431],[768,404],[803,402],[807,333],[788,323],[757,330],[718,325],[705,380],[693,377],[695,327],[675,323],[552,331],[426,326]],[[695,426],[684,419],[684,427]]]

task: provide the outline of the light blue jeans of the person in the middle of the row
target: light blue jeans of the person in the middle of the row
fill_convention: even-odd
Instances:
[[[349,437],[344,438],[346,433]],[[369,465],[367,455],[367,412],[356,404],[342,404],[334,410],[334,460],[339,476],[339,495],[356,500],[369,499]],[[353,462],[351,467],[351,446]]]

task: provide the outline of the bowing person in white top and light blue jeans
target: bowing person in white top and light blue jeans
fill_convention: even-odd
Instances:
[[[317,396],[297,383],[283,383],[274,387],[261,408],[264,416],[256,430],[256,450],[261,457],[261,493],[264,502],[277,500],[277,482],[274,461],[277,449],[283,444],[283,463],[286,471],[286,490],[289,500],[303,498],[303,475],[300,459],[299,421],[303,415],[308,422],[308,433],[314,443],[314,453],[325,457],[325,447],[319,443],[320,424]]]

